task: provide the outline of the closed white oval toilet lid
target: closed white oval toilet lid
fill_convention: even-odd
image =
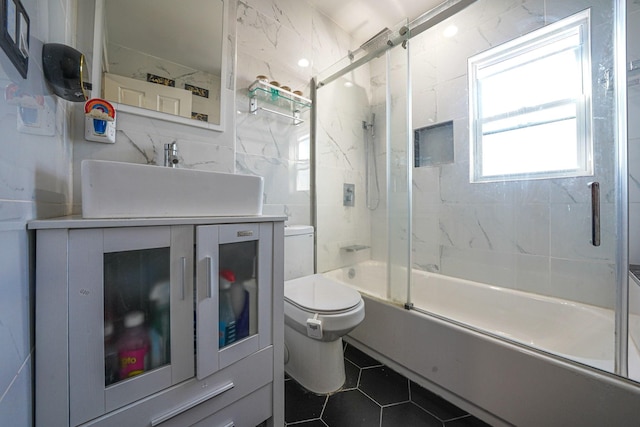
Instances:
[[[313,313],[344,312],[362,301],[360,293],[355,289],[319,274],[285,282],[284,298]]]

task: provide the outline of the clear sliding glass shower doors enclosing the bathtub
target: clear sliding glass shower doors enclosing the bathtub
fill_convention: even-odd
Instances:
[[[625,13],[478,0],[323,73],[317,271],[373,260],[377,297],[640,380]]]

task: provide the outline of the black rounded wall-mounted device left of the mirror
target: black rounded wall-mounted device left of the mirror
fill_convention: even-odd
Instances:
[[[42,46],[42,71],[53,93],[72,102],[87,100],[84,55],[70,46],[46,43]]]

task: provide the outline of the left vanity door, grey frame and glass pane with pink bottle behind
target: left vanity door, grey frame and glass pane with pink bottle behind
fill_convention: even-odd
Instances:
[[[73,425],[194,375],[193,226],[70,232]]]

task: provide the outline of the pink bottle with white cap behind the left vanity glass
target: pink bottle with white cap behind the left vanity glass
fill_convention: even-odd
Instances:
[[[144,313],[132,311],[124,318],[125,330],[118,339],[120,379],[124,380],[145,371],[149,353],[149,334],[144,327]]]

